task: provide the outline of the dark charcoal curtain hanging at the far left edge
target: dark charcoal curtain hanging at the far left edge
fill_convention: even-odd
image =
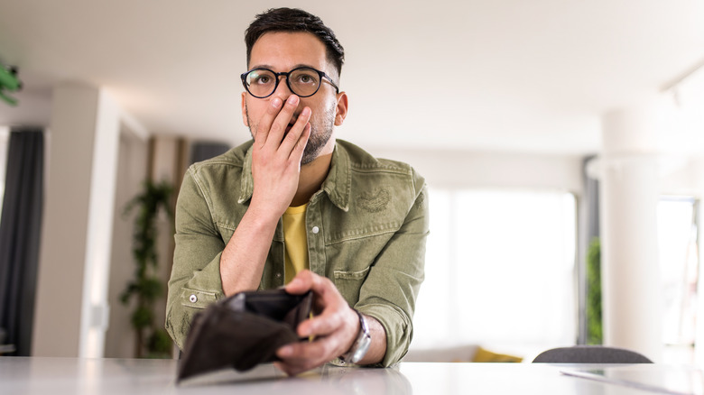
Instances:
[[[42,225],[44,133],[13,130],[0,217],[0,328],[16,355],[32,350],[39,238]]]

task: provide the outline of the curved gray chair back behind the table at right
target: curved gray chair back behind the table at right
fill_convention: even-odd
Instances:
[[[543,351],[533,363],[653,363],[643,354],[602,345],[573,345]]]

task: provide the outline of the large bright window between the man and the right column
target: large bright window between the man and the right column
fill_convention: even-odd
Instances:
[[[574,343],[574,196],[431,188],[430,199],[412,347]]]

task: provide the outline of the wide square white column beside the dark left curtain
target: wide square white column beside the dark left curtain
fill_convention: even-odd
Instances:
[[[97,87],[54,89],[33,355],[103,354],[119,124]]]

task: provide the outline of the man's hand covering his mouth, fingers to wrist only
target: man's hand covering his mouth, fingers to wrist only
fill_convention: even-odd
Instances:
[[[252,127],[252,176],[255,190],[252,206],[263,207],[278,219],[298,188],[301,158],[310,137],[310,108],[294,119],[300,103],[289,96],[285,103],[274,97],[259,123]],[[295,122],[294,122],[295,121]]]

